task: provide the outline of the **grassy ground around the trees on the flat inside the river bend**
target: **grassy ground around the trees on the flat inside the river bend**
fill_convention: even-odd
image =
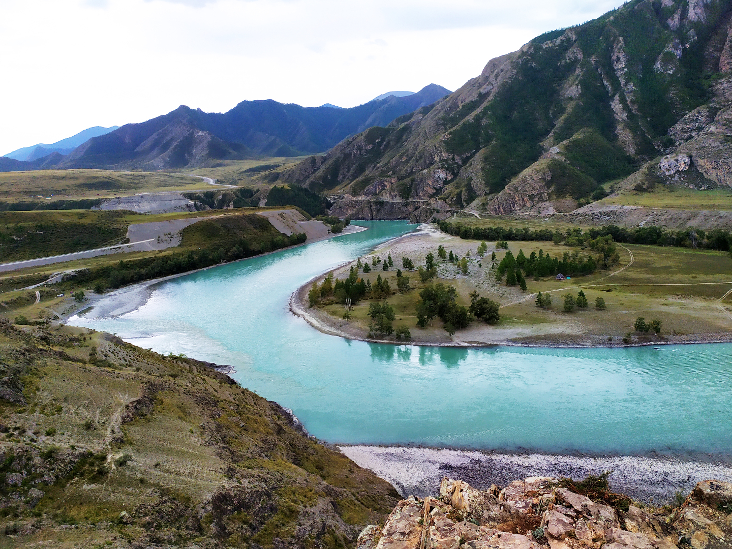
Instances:
[[[484,221],[476,219],[474,223]],[[507,225],[508,223],[504,224]],[[503,282],[496,282],[495,271],[491,270],[490,256],[495,250],[497,266],[506,250],[496,250],[495,242],[488,243],[488,253],[480,258],[477,255],[480,242],[477,240],[463,240],[447,234],[414,238],[418,239],[417,242],[398,242],[394,246],[382,247],[372,254],[383,259],[391,253],[395,264],[388,272],[382,271],[381,265],[378,265],[370,273],[359,272],[359,277],[370,280],[372,285],[377,275],[388,277],[392,291],[395,292],[387,299],[389,305],[395,309],[396,318],[393,324],[395,328],[407,326],[411,330],[412,339],[417,342],[447,343],[451,340],[439,318],[435,318],[427,329],[417,326],[419,291],[427,285],[419,282],[417,272],[403,270],[403,274],[410,277],[414,289],[406,294],[397,291],[396,269],[401,267],[401,258],[411,258],[416,267],[425,264],[425,255],[430,251],[436,258],[438,272],[433,282],[454,285],[458,290],[458,305],[470,305],[468,294],[473,291],[501,305],[501,321],[498,324],[488,325],[482,321],[474,321],[467,329],[458,330],[452,340],[474,343],[507,340],[523,343],[543,341],[583,344],[589,340],[595,344],[612,341],[618,343],[628,332],[634,332],[635,319],[641,316],[648,322],[654,318],[662,322],[661,337],[725,333],[732,335],[732,296],[720,301],[732,289],[732,258],[729,253],[623,244],[618,247],[619,264],[610,269],[564,281],[556,280],[553,276],[538,280],[526,277],[527,289],[521,291],[518,285],[508,286],[505,277]],[[452,250],[459,257],[470,251],[468,275],[460,272],[457,262],[440,260],[437,257],[438,244],[442,244],[448,253]],[[578,250],[552,242],[508,242],[508,246],[514,256],[523,250],[527,257],[531,252],[538,255],[539,250],[552,257]],[[589,249],[579,251],[591,253]],[[370,256],[367,259],[370,260]],[[622,269],[625,266],[627,268]],[[348,275],[348,268],[349,266],[343,267],[335,276],[343,280]],[[620,269],[622,270],[617,272]],[[617,273],[613,275],[615,272]],[[586,294],[589,307],[585,310],[575,308],[571,313],[564,312],[564,295],[577,296],[580,290]],[[549,292],[552,296],[552,305],[548,310],[536,307],[534,303],[539,291]],[[527,296],[531,297],[526,299]],[[607,307],[605,310],[594,307],[597,297],[604,299]],[[348,323],[342,319],[343,305],[332,303],[322,310],[328,313],[331,324],[346,326],[350,333],[365,337],[370,320],[367,315],[370,302],[370,299],[360,301],[354,307]],[[631,339],[637,343],[644,338],[649,339],[651,334],[652,332],[634,335]]]

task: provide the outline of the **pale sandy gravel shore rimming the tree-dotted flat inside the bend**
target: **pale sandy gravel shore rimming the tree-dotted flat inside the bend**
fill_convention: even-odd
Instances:
[[[447,250],[453,250],[456,255],[466,255],[468,250],[471,250],[473,257],[475,257],[475,248],[477,242],[459,239],[455,236],[450,236],[439,231],[433,225],[420,225],[419,231],[400,236],[389,242],[381,244],[376,250],[373,251],[373,255],[380,255],[385,257],[387,254],[391,254],[392,258],[395,258],[395,266],[391,272],[381,273],[380,269],[373,271],[372,277],[376,274],[393,275],[397,266],[400,266],[400,258],[408,257],[414,260],[415,264],[422,264],[424,262],[425,255],[430,251],[436,253],[438,245],[444,245]],[[495,244],[495,243],[491,243]],[[523,243],[510,243],[512,247],[522,245],[526,247],[526,242]],[[550,243],[539,243],[545,247],[550,246]],[[483,261],[490,264],[490,255],[493,251],[497,251],[499,254],[503,250],[496,250],[489,246],[488,253],[485,255]],[[518,250],[514,250],[516,254]],[[526,255],[529,255],[528,253]],[[348,277],[348,271],[356,261],[350,261],[342,266],[334,269],[332,272],[335,277],[343,279]],[[475,262],[477,263],[477,261]],[[462,346],[462,347],[474,347],[474,346],[493,346],[493,345],[507,345],[507,346],[533,346],[533,347],[626,347],[626,346],[662,346],[676,343],[728,343],[732,341],[732,330],[730,332],[717,332],[714,330],[704,329],[707,326],[698,324],[698,332],[681,334],[673,332],[672,334],[664,334],[662,336],[643,336],[633,337],[630,343],[624,343],[622,337],[632,330],[632,321],[635,320],[634,311],[624,310],[620,311],[627,318],[630,319],[630,326],[619,326],[613,325],[613,321],[617,318],[605,317],[597,319],[597,313],[594,310],[588,310],[582,313],[565,314],[561,312],[561,305],[559,304],[560,294],[559,291],[578,291],[578,286],[575,286],[575,280],[567,281],[566,283],[553,283],[555,284],[550,290],[553,292],[554,310],[550,311],[539,311],[534,307],[534,298],[536,294],[528,294],[527,292],[521,291],[518,286],[507,286],[504,284],[498,284],[493,277],[488,276],[485,269],[481,271],[476,268],[477,265],[471,266],[471,272],[468,276],[461,275],[454,264],[446,264],[445,262],[438,263],[438,278],[440,281],[447,282],[455,285],[458,288],[458,293],[463,294],[463,299],[470,291],[478,291],[479,294],[490,297],[499,304],[501,307],[502,317],[507,317],[506,322],[501,322],[497,326],[490,326],[482,321],[474,321],[467,329],[460,330],[455,333],[454,336],[450,337],[444,329],[441,328],[441,322],[436,321],[435,324],[439,326],[429,326],[427,329],[420,329],[414,326],[414,319],[411,319],[411,325],[408,324],[411,330],[411,342],[412,344],[429,345],[429,346]],[[412,280],[415,280],[416,273],[405,272],[409,275]],[[324,273],[325,275],[325,273]],[[393,337],[385,339],[376,339],[367,337],[367,327],[365,322],[361,321],[350,321],[346,322],[342,318],[338,318],[334,315],[334,310],[328,312],[324,308],[310,307],[308,301],[308,291],[310,286],[315,280],[321,282],[324,275],[315,277],[310,280],[307,284],[302,285],[298,288],[291,296],[290,309],[291,311],[304,318],[308,324],[329,335],[335,335],[338,337],[345,337],[347,339],[370,341],[373,343],[396,343],[403,344],[403,342],[396,341]],[[597,278],[597,277],[596,277]],[[608,279],[607,276],[600,280]],[[620,277],[613,278],[612,282],[620,282]],[[373,282],[373,281],[372,281]],[[590,283],[597,282],[597,280],[589,280]],[[583,282],[577,282],[577,284],[583,284]],[[560,285],[559,288],[556,285]],[[392,288],[395,287],[395,283],[392,281]],[[584,288],[586,286],[583,285]],[[604,287],[604,286],[603,286]],[[616,288],[617,289],[617,288]],[[413,290],[414,291],[414,290]],[[529,289],[531,291],[531,288]],[[586,290],[587,291],[587,290]],[[589,291],[587,291],[589,294]],[[608,296],[608,294],[600,294],[602,296]],[[590,297],[594,300],[594,297]],[[608,301],[609,301],[608,297]],[[505,304],[505,305],[504,305]],[[624,305],[620,303],[619,305]],[[679,305],[679,310],[683,310],[687,307],[687,303]],[[331,307],[333,309],[333,307]],[[625,307],[619,307],[625,308]],[[712,314],[719,315],[723,318],[723,314],[720,314],[720,310],[717,307],[708,307],[708,311],[700,310],[698,315],[703,315],[711,312]],[[525,321],[526,315],[534,315],[531,321]],[[537,315],[543,315],[539,316]],[[643,315],[639,313],[638,315]],[[398,316],[398,315],[397,315]],[[650,316],[650,315],[649,315]],[[609,321],[608,325],[607,318],[613,318]],[[690,318],[691,321],[694,318]],[[400,323],[400,318],[395,321],[395,326]],[[605,325],[602,322],[605,321]],[[691,326],[696,327],[696,326]],[[715,328],[716,326],[709,326]]]

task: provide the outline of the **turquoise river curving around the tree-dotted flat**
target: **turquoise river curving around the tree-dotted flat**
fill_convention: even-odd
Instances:
[[[450,348],[316,331],[288,310],[296,288],[417,227],[357,224],[369,230],[185,275],[154,286],[131,313],[69,323],[233,365],[242,386],[333,443],[732,451],[732,344]]]

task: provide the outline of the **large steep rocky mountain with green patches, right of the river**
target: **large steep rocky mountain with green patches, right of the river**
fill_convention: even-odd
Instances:
[[[571,211],[616,182],[732,187],[730,0],[632,0],[280,174],[358,219]],[[608,185],[605,185],[607,187]]]

